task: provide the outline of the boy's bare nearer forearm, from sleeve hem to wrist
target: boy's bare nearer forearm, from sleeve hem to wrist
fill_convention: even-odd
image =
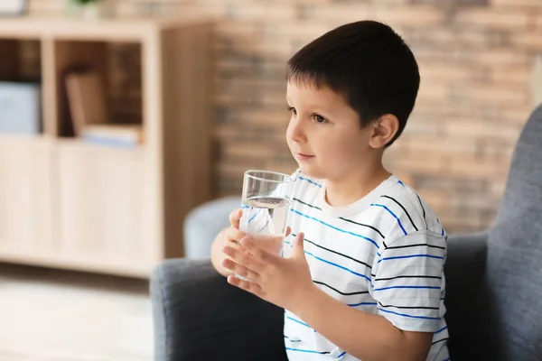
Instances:
[[[325,311],[322,311],[325,310]],[[425,361],[433,333],[397,329],[382,316],[353,309],[314,287],[292,312],[364,361]]]

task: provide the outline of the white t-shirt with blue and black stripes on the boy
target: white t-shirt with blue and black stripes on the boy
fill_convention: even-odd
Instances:
[[[350,307],[378,314],[397,329],[433,332],[427,360],[449,360],[444,321],[446,235],[415,190],[391,176],[346,207],[325,201],[325,182],[294,173],[284,256],[304,232],[313,282]],[[360,337],[362,337],[360,335]],[[285,310],[291,361],[356,360]]]

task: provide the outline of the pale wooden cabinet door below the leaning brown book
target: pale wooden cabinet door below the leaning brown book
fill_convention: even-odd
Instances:
[[[65,142],[58,153],[62,255],[88,262],[148,264],[142,150]]]

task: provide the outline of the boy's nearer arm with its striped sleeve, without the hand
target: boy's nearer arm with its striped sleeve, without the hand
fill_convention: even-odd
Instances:
[[[418,231],[380,250],[369,286],[378,314],[353,309],[316,287],[304,298],[311,301],[297,302],[292,311],[364,361],[425,361],[442,317],[445,249],[443,236]]]

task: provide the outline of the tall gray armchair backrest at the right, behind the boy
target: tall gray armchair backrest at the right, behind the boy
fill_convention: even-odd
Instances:
[[[500,210],[491,228],[486,294],[495,357],[542,357],[542,106],[516,145]]]

